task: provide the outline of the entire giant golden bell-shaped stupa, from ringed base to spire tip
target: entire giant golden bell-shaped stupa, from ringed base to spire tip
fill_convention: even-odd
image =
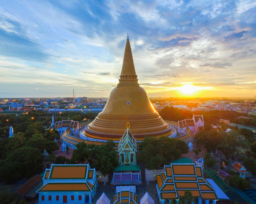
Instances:
[[[127,122],[131,124],[130,130],[136,138],[167,136],[172,132],[170,125],[155,111],[146,91],[138,84],[128,35],[119,83],[111,91],[102,112],[85,127],[84,134],[117,139],[124,134]]]

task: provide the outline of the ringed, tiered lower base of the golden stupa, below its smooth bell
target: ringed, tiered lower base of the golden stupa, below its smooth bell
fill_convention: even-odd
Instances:
[[[131,132],[136,139],[146,136],[170,135],[172,129],[157,112],[140,115],[114,115],[99,113],[99,115],[85,127],[84,134],[93,137],[120,139],[126,128],[131,125]]]

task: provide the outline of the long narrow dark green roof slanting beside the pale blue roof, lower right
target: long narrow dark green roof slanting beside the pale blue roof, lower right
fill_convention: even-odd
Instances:
[[[211,169],[204,169],[204,173],[220,187],[220,189],[229,197],[230,200],[233,202],[237,200],[239,203],[244,203],[244,199],[233,191],[233,189],[225,181],[223,181],[218,174],[215,173],[215,171]]]

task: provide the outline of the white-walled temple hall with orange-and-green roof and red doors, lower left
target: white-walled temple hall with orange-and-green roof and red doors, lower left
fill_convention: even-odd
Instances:
[[[92,203],[97,179],[89,164],[52,164],[51,169],[45,170],[43,186],[36,191],[38,203]]]

